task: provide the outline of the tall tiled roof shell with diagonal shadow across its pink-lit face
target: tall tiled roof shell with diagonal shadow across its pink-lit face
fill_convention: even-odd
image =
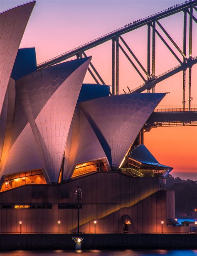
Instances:
[[[57,182],[59,176],[66,139],[89,62],[90,58],[68,61],[17,81],[17,91],[51,182]]]

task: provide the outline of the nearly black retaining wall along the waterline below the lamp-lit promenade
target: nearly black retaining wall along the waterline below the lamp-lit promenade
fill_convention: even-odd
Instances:
[[[0,235],[0,249],[74,249],[72,236],[71,234]],[[197,249],[195,234],[83,234],[83,237],[84,249]]]

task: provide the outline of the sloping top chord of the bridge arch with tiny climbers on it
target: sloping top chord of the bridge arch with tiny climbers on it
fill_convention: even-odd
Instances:
[[[59,56],[56,56],[54,58],[51,58],[49,59],[48,61],[44,61],[42,63],[39,63],[37,65],[37,69],[39,68],[43,68],[43,67],[46,67],[46,66],[51,66],[51,65],[54,65],[54,64],[57,64],[61,61],[64,61],[68,58],[71,58],[75,55],[77,55],[78,53],[82,52],[82,51],[86,51],[86,50],[89,50],[95,46],[98,46],[99,44],[101,43],[105,43],[106,41],[109,41],[111,40],[112,38],[114,38],[116,35],[123,35],[125,33],[128,33],[132,30],[135,30],[137,28],[140,28],[144,25],[147,25],[148,23],[152,22],[153,20],[160,20],[160,19],[163,19],[165,17],[168,17],[170,15],[173,15],[175,13],[179,13],[183,10],[187,10],[187,8],[189,8],[191,5],[195,6],[196,8],[196,5],[197,5],[197,0],[191,0],[191,1],[186,1],[186,3],[182,3],[182,4],[179,4],[177,7],[175,8],[168,8],[168,9],[165,9],[161,12],[158,12],[158,13],[155,13],[153,15],[150,15],[148,17],[145,17],[143,19],[139,19],[135,22],[132,22],[131,25],[128,25],[128,26],[123,26],[122,28],[118,28],[110,33],[107,33],[106,35],[103,35],[99,38],[96,38],[88,43],[85,43],[79,47],[76,47],[70,51],[67,51],[65,53],[62,53],[61,55]],[[193,15],[193,19],[195,20],[196,22],[196,18],[195,16]]]

